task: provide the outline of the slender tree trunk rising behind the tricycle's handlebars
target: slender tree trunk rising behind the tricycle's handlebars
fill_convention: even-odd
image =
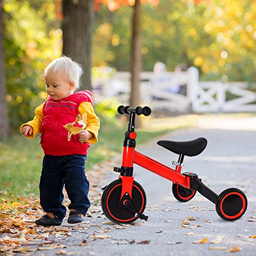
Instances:
[[[140,0],[135,1],[132,14],[132,47],[131,47],[131,98],[130,106],[136,108],[140,103],[140,71],[141,71],[141,52],[140,52]],[[140,119],[137,118],[136,127],[140,127]]]

